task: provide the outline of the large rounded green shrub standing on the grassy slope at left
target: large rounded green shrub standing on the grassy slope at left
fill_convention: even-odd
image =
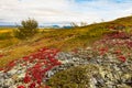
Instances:
[[[37,33],[37,22],[33,19],[21,22],[21,26],[18,26],[18,30],[14,31],[14,35],[18,38],[28,38]]]

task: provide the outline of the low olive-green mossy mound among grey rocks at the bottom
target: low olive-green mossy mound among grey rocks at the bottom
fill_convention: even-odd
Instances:
[[[47,85],[52,88],[87,88],[90,76],[97,72],[96,65],[72,67],[54,75]]]

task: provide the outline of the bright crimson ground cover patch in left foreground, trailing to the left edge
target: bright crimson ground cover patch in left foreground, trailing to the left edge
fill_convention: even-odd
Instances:
[[[10,62],[4,68],[0,68],[0,70],[4,69],[4,72],[8,72],[16,66],[18,63],[22,63],[22,66],[32,64],[32,67],[26,68],[25,77],[22,81],[23,85],[18,86],[18,88],[41,88],[41,86],[44,85],[43,79],[46,77],[46,73],[62,64],[55,58],[58,52],[59,51],[55,48],[44,47],[31,55],[22,57],[22,59]],[[43,88],[50,87],[44,86]]]

